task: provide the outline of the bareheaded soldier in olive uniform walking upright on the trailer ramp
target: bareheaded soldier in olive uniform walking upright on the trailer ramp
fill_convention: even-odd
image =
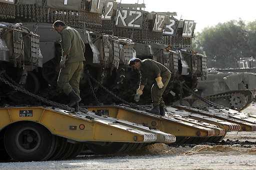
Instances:
[[[83,70],[85,45],[77,30],[66,26],[61,20],[56,20],[52,27],[61,35],[62,57],[57,84],[69,96],[68,106],[75,105],[78,111],[80,76]]]

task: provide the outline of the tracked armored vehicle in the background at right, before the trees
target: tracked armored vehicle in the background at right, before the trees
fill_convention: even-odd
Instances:
[[[232,109],[241,110],[248,106],[255,99],[256,59],[252,56],[241,57],[236,66],[224,69],[209,68],[207,79],[198,81],[197,93]],[[189,103],[185,103],[193,106],[207,105],[201,100],[188,100]]]

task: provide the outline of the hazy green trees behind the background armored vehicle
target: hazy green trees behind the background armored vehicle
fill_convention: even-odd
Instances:
[[[230,20],[195,34],[192,48],[207,56],[209,67],[236,67],[240,57],[256,57],[256,20]]]

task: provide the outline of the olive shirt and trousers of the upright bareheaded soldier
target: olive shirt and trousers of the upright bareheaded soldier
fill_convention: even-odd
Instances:
[[[69,26],[64,26],[61,34],[62,56],[66,55],[65,67],[61,68],[58,75],[58,86],[65,94],[72,89],[79,95],[79,82],[83,70],[85,45],[79,32]]]

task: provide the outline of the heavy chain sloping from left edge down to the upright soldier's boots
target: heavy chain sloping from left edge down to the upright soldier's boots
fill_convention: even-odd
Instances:
[[[67,106],[67,105],[65,105],[65,104],[60,104],[60,103],[57,103],[57,102],[48,100],[48,99],[46,99],[46,98],[43,98],[43,97],[41,97],[41,96],[38,96],[38,95],[36,95],[36,94],[33,94],[33,93],[27,91],[27,90],[24,89],[23,87],[14,85],[13,83],[11,83],[11,82],[14,82],[14,81],[13,81],[10,77],[7,76],[8,79],[11,79],[11,82],[9,82],[9,81],[7,80],[7,78],[4,78],[4,76],[6,76],[6,73],[3,72],[3,71],[0,72],[0,81],[2,81],[3,83],[9,85],[10,87],[12,87],[13,89],[15,89],[16,91],[19,91],[19,92],[22,92],[22,93],[27,94],[27,95],[29,95],[29,96],[32,96],[32,97],[34,97],[35,99],[37,99],[37,100],[39,100],[39,101],[41,101],[41,102],[43,102],[43,103],[46,103],[46,104],[49,104],[49,105],[52,105],[52,106],[55,106],[55,107],[58,107],[58,108],[61,108],[61,109],[64,109],[64,110],[68,110],[68,111],[72,111],[72,110],[73,110],[73,108],[71,108],[71,107],[69,107],[69,106]],[[15,82],[15,84],[16,84],[16,82]]]

